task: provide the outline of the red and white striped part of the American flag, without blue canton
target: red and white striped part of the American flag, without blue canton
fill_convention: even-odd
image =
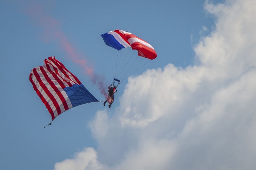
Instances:
[[[52,120],[72,108],[64,88],[81,84],[78,78],[55,57],[45,59],[43,67],[40,66],[31,70],[29,80],[51,114]]]

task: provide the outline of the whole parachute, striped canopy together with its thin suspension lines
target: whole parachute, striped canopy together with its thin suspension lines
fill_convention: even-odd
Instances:
[[[116,78],[118,78],[120,79],[120,81],[118,81],[117,85],[119,85],[121,81],[123,81],[124,79],[129,77],[131,74],[133,74],[135,71],[140,69],[142,66],[147,64],[149,61],[145,60],[145,58],[153,60],[157,57],[155,49],[147,41],[144,41],[141,38],[127,31],[123,31],[123,30],[109,31],[107,33],[101,34],[101,37],[103,38],[103,41],[107,46],[115,50],[118,50],[117,55],[115,55],[116,53],[113,51],[114,52],[113,61],[111,62],[112,64],[110,64],[110,65],[114,64],[112,66],[113,84],[115,84],[117,80]],[[134,52],[132,55],[130,55],[128,54],[129,52],[128,50],[126,51],[122,50],[124,48],[132,49],[134,51],[137,50],[138,56],[133,57]],[[127,54],[121,55],[121,53],[123,52],[124,53],[127,52]],[[141,58],[139,56],[141,56]]]

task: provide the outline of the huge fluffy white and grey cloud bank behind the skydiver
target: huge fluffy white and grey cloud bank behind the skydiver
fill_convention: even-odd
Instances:
[[[97,151],[56,170],[255,169],[256,2],[205,9],[215,29],[194,47],[195,64],[129,78],[116,112],[98,111],[90,123]]]

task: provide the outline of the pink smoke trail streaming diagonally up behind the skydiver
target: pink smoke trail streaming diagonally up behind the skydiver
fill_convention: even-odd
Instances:
[[[60,48],[68,54],[70,59],[84,69],[84,73],[90,77],[94,85],[97,85],[100,93],[107,98],[108,94],[105,90],[106,85],[103,82],[103,78],[96,74],[92,67],[88,66],[89,64],[85,56],[79,54],[76,48],[71,45],[65,33],[60,29],[59,22],[45,13],[43,6],[39,4],[31,3],[25,12],[36,21],[38,26],[43,28],[43,41],[56,41]]]

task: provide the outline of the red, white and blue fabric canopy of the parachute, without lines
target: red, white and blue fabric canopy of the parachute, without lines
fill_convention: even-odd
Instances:
[[[109,47],[120,50],[122,48],[132,47],[138,51],[138,55],[153,60],[157,54],[155,49],[146,41],[133,35],[132,33],[115,30],[101,34],[105,44]]]

